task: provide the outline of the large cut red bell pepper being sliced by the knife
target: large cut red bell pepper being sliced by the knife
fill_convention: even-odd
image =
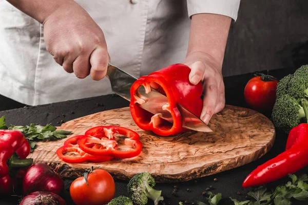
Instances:
[[[177,103],[200,117],[202,111],[202,84],[196,86],[189,82],[190,68],[183,64],[174,64],[159,71],[142,76],[136,80],[130,89],[130,113],[138,127],[145,131],[152,131],[161,136],[175,135],[186,131],[182,128],[182,117]],[[173,124],[159,117],[159,113],[152,113],[142,109],[139,105],[145,103],[138,96],[141,86],[146,92],[151,88],[159,91],[168,98],[168,104],[163,109],[168,110],[173,118]]]

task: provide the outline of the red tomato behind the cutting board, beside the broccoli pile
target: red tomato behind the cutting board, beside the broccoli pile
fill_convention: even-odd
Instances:
[[[265,74],[250,79],[244,89],[248,106],[260,112],[271,111],[275,104],[278,83],[276,78]]]

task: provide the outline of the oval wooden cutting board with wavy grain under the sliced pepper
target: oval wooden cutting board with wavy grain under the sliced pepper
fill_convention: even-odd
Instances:
[[[138,132],[143,143],[141,154],[131,159],[112,159],[103,163],[65,163],[55,154],[65,138],[38,142],[37,149],[29,157],[34,159],[34,163],[47,163],[65,178],[82,176],[85,169],[93,166],[105,169],[118,179],[129,180],[134,174],[150,172],[157,182],[179,182],[245,165],[268,152],[275,140],[275,128],[268,118],[256,111],[234,106],[225,106],[211,118],[211,133],[188,131],[160,137],[137,127],[128,107],[76,118],[65,122],[59,129],[73,131],[70,136],[74,136],[84,134],[92,127],[106,125]]]

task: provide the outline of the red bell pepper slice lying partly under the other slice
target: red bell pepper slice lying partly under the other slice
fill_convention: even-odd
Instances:
[[[112,156],[94,156],[85,153],[82,151],[79,146],[78,146],[78,141],[81,137],[84,135],[77,135],[74,137],[68,138],[65,142],[64,145],[56,150],[57,156],[68,163],[83,163],[83,162],[93,162],[93,163],[99,163],[99,162],[104,162],[104,161],[109,161],[112,159]],[[99,149],[97,145],[93,145],[93,149]],[[66,153],[75,153],[76,155],[65,155]]]

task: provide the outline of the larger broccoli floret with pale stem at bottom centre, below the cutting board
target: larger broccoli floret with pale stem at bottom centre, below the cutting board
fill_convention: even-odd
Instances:
[[[136,205],[145,205],[148,198],[157,205],[160,200],[164,200],[161,196],[162,191],[153,189],[155,179],[148,172],[142,172],[134,175],[127,185],[128,196]]]

